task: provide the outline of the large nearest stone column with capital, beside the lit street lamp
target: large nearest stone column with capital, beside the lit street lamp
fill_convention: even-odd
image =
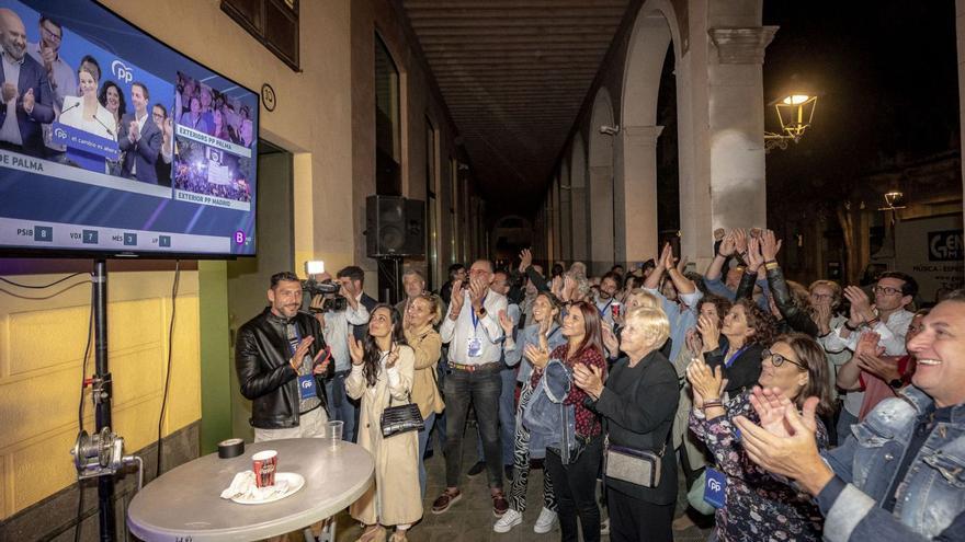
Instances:
[[[713,44],[707,66],[713,228],[767,227],[761,65],[776,31],[776,26],[708,30]]]

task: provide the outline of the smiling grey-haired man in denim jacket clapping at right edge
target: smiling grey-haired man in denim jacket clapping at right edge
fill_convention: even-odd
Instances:
[[[798,416],[758,391],[761,426],[738,420],[745,449],[817,497],[825,540],[965,540],[965,290],[922,321],[908,345],[912,384],[883,401],[843,446],[818,454],[815,397]]]

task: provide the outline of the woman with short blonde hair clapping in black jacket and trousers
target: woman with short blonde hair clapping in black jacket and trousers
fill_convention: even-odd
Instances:
[[[670,322],[662,310],[650,308],[627,312],[625,322],[620,338],[624,356],[613,365],[605,385],[603,371],[584,365],[574,367],[574,382],[603,417],[609,447],[660,457],[659,480],[649,486],[605,477],[610,540],[670,542],[677,461],[668,442],[680,397],[677,371],[660,353]]]

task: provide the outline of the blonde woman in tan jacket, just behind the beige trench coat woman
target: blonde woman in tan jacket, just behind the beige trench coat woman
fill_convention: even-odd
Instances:
[[[429,435],[435,416],[445,408],[436,383],[436,369],[442,355],[442,337],[434,326],[442,315],[439,296],[423,292],[412,299],[406,311],[404,330],[406,342],[416,353],[416,371],[412,377],[412,402],[419,405],[424,428],[419,431],[419,488],[425,496],[425,463],[422,457],[429,443]]]

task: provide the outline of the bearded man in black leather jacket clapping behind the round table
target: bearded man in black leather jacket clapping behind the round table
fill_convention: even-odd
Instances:
[[[322,437],[328,422],[325,381],[331,356],[318,321],[300,312],[302,282],[276,273],[270,305],[238,330],[235,369],[250,399],[254,440]]]

